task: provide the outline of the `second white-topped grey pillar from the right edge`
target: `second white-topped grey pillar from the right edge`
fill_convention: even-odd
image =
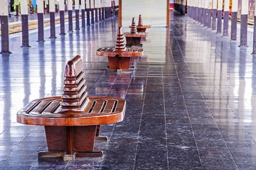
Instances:
[[[247,47],[248,0],[241,1],[240,46]]]

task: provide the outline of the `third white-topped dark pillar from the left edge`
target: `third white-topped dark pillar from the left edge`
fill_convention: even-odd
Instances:
[[[44,41],[44,0],[37,0],[38,42]]]

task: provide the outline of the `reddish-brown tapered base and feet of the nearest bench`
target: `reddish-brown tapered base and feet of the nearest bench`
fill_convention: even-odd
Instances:
[[[97,125],[92,126],[45,126],[49,152],[40,152],[38,157],[63,157],[65,161],[77,156],[102,156],[102,151],[93,151]],[[98,137],[106,141],[106,137]]]

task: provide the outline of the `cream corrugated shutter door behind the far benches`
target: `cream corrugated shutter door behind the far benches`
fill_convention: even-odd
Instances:
[[[167,25],[167,0],[122,0],[122,25],[131,25],[132,18],[142,15],[143,24]]]

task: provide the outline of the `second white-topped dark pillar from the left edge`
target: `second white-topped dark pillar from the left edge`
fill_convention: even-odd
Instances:
[[[28,3],[27,0],[20,0],[21,8],[21,27],[22,27],[22,46],[29,46],[29,21],[28,21]]]

